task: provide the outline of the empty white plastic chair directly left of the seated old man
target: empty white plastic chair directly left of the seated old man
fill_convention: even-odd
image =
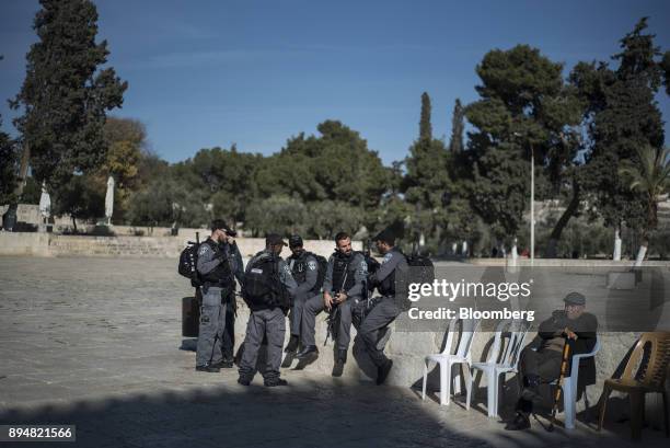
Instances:
[[[470,400],[472,395],[472,386],[474,382],[475,370],[481,370],[486,376],[486,407],[489,417],[498,415],[498,391],[500,390],[499,379],[507,374],[517,374],[519,366],[519,357],[529,325],[523,322],[515,322],[511,319],[501,321],[496,328],[494,343],[488,352],[488,358],[485,363],[472,363],[470,369],[470,384],[467,386],[467,399],[465,409],[470,409]],[[504,334],[509,332],[509,341],[505,344],[505,349],[500,356],[500,344],[504,343]]]

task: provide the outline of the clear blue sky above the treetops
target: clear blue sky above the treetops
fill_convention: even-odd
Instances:
[[[418,134],[424,91],[434,134],[449,138],[453,103],[477,97],[475,66],[492,48],[529,44],[569,69],[608,60],[648,15],[670,49],[661,0],[95,3],[108,62],[129,82],[112,114],[143,122],[150,147],[171,162],[233,142],[269,154],[332,118],[390,163]],[[4,100],[21,87],[37,9],[36,0],[0,2],[0,114],[11,133]],[[668,122],[670,101],[658,100]]]

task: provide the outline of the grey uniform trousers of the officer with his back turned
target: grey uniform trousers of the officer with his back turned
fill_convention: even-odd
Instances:
[[[252,311],[246,324],[246,336],[244,337],[244,353],[240,360],[240,377],[253,377],[258,359],[258,349],[264,336],[267,337],[267,364],[263,378],[279,378],[281,365],[281,347],[286,332],[284,312],[279,308],[269,310]]]

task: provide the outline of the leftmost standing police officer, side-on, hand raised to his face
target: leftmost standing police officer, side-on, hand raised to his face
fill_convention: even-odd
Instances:
[[[226,298],[234,289],[229,253],[221,244],[231,230],[220,219],[211,223],[211,234],[198,249],[196,268],[203,280],[200,325],[196,349],[196,370],[218,372],[222,366],[221,340],[226,329]]]

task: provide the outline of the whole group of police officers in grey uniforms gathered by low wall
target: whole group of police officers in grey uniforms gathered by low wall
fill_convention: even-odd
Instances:
[[[302,238],[292,236],[287,244],[276,233],[266,237],[265,250],[252,257],[243,271],[234,232],[222,220],[215,220],[211,236],[198,249],[197,271],[203,285],[199,288],[201,308],[196,370],[218,372],[233,366],[236,279],[243,285],[242,296],[251,311],[238,365],[240,384],[251,383],[264,342],[267,343],[266,366],[262,371],[264,384],[287,384],[280,378],[287,314],[291,333],[284,349],[284,366],[289,366],[293,358],[304,364],[315,360],[319,356],[314,338],[316,315],[324,310],[337,313],[333,324],[336,334],[333,376],[343,374],[354,324],[377,366],[377,383],[382,384],[393,361],[384,355],[380,335],[403,310],[395,294],[395,274],[406,271],[407,262],[395,248],[390,230],[380,232],[373,241],[383,255],[374,273],[368,272],[366,257],[353,250],[351,238],[345,232],[335,237],[336,248],[327,261],[325,273],[320,273],[323,263],[304,249]],[[279,255],[286,245],[289,245],[291,255],[284,261]],[[265,276],[264,272],[273,275]],[[272,285],[254,285],[264,278]],[[323,285],[319,284],[320,278]],[[373,288],[380,296],[372,302],[369,291]],[[267,297],[252,300],[254,295]]]

